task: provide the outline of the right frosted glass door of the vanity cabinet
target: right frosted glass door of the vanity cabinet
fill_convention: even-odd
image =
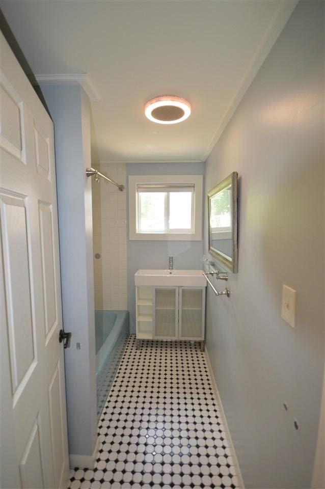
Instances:
[[[179,288],[179,338],[204,340],[205,289]]]

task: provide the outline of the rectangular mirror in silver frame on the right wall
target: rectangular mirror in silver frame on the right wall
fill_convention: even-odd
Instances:
[[[229,270],[237,271],[238,174],[216,185],[208,193],[209,253]]]

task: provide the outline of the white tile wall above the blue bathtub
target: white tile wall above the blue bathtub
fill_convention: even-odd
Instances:
[[[125,164],[99,163],[93,168],[126,183]],[[92,190],[95,309],[126,310],[126,192],[103,179],[93,180]]]

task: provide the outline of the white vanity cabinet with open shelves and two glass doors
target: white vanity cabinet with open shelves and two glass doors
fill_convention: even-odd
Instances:
[[[138,286],[137,346],[141,340],[193,340],[204,348],[205,287]]]

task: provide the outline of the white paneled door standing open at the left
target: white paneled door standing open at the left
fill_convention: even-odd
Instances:
[[[66,487],[53,124],[1,34],[1,487]]]

